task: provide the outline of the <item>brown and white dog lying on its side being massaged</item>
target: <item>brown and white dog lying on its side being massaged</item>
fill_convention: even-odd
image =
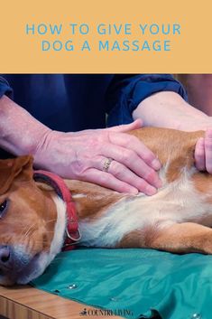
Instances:
[[[78,215],[80,245],[212,253],[212,175],[194,165],[204,132],[143,128],[132,132],[162,164],[162,187],[136,196],[66,180]],[[67,204],[33,178],[32,157],[0,161],[0,284],[41,275],[67,236]]]

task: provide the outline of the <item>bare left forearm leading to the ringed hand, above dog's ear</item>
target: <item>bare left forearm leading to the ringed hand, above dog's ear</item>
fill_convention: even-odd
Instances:
[[[0,147],[14,155],[34,154],[51,129],[42,125],[13,100],[0,99]]]

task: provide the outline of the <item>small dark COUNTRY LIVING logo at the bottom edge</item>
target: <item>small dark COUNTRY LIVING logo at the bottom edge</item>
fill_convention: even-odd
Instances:
[[[94,315],[122,315],[122,316],[132,316],[133,311],[129,309],[92,309],[84,308],[80,313],[81,316],[94,316]]]

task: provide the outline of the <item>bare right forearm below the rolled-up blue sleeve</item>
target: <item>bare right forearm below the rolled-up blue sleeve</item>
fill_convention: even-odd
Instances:
[[[184,131],[211,127],[211,117],[191,107],[179,94],[169,91],[143,99],[134,110],[133,117],[142,118],[145,127],[169,127]]]

